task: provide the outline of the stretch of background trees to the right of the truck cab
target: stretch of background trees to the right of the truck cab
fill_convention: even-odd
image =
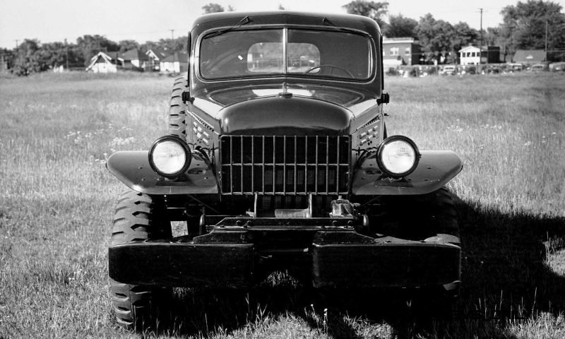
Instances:
[[[549,60],[565,60],[565,14],[561,5],[552,1],[527,0],[506,6],[501,10],[503,22],[482,32],[468,23],[437,20],[430,13],[420,20],[389,15],[386,1],[354,0],[343,8],[376,20],[386,37],[419,40],[426,61],[454,63],[458,50],[469,44],[499,46],[508,61],[517,49],[545,49]]]

